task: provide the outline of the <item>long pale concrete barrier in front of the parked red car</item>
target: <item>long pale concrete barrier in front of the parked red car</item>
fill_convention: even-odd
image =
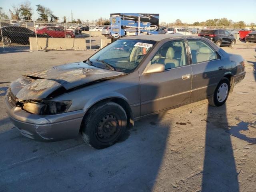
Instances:
[[[84,38],[29,38],[30,50],[86,50]]]

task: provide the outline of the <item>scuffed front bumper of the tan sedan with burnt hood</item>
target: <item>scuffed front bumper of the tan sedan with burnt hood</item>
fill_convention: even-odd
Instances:
[[[5,97],[7,114],[20,133],[38,141],[56,141],[74,138],[79,134],[85,109],[56,115],[30,114],[13,106],[8,93]]]

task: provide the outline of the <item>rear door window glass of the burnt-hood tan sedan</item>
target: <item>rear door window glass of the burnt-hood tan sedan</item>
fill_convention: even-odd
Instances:
[[[216,51],[202,40],[189,40],[192,64],[218,59]]]

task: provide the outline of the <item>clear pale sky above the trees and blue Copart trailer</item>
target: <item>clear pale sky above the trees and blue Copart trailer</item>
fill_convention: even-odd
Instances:
[[[6,14],[14,4],[24,0],[0,0],[0,7]],[[38,14],[36,5],[50,8],[54,15],[63,21],[66,16],[81,20],[110,18],[110,13],[159,13],[160,22],[172,23],[180,19],[183,23],[202,22],[214,18],[256,23],[256,0],[30,0],[33,9],[32,19]],[[242,2],[242,3],[241,3]],[[245,3],[246,2],[246,3]]]

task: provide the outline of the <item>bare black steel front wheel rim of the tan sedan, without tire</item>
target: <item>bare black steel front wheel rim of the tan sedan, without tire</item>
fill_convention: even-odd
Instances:
[[[108,142],[116,137],[120,130],[118,118],[114,114],[106,114],[96,128],[96,135],[102,142]]]

